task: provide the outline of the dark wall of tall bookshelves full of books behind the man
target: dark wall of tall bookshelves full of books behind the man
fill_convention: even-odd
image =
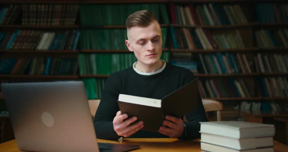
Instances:
[[[143,9],[161,24],[162,59],[199,77],[223,120],[287,114],[285,0],[0,0],[0,83],[82,80],[101,98],[105,79],[137,60],[125,19]]]

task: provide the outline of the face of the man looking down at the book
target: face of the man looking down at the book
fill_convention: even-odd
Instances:
[[[162,32],[155,20],[147,27],[131,27],[125,41],[129,51],[133,51],[138,62],[153,66],[160,61],[162,54]]]

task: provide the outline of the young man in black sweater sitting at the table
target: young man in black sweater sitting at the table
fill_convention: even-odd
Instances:
[[[131,14],[126,20],[129,51],[137,62],[123,71],[109,76],[102,91],[102,98],[94,118],[98,138],[200,138],[200,121],[206,121],[206,113],[199,97],[194,111],[182,118],[167,115],[159,133],[141,130],[145,122],[137,117],[121,114],[117,104],[119,94],[161,99],[194,79],[191,71],[161,60],[162,32],[155,16],[147,11]],[[200,96],[200,95],[199,95]],[[177,102],[177,101],[175,101]],[[137,122],[137,123],[134,123]]]

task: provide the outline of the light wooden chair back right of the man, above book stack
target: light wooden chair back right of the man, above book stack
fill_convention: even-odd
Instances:
[[[205,112],[216,111],[217,121],[221,121],[221,111],[223,110],[222,102],[213,100],[213,99],[202,99],[202,103],[203,103]]]

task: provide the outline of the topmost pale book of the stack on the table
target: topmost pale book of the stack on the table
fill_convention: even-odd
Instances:
[[[200,122],[201,133],[223,135],[231,138],[274,136],[274,125],[243,121],[209,121]]]

